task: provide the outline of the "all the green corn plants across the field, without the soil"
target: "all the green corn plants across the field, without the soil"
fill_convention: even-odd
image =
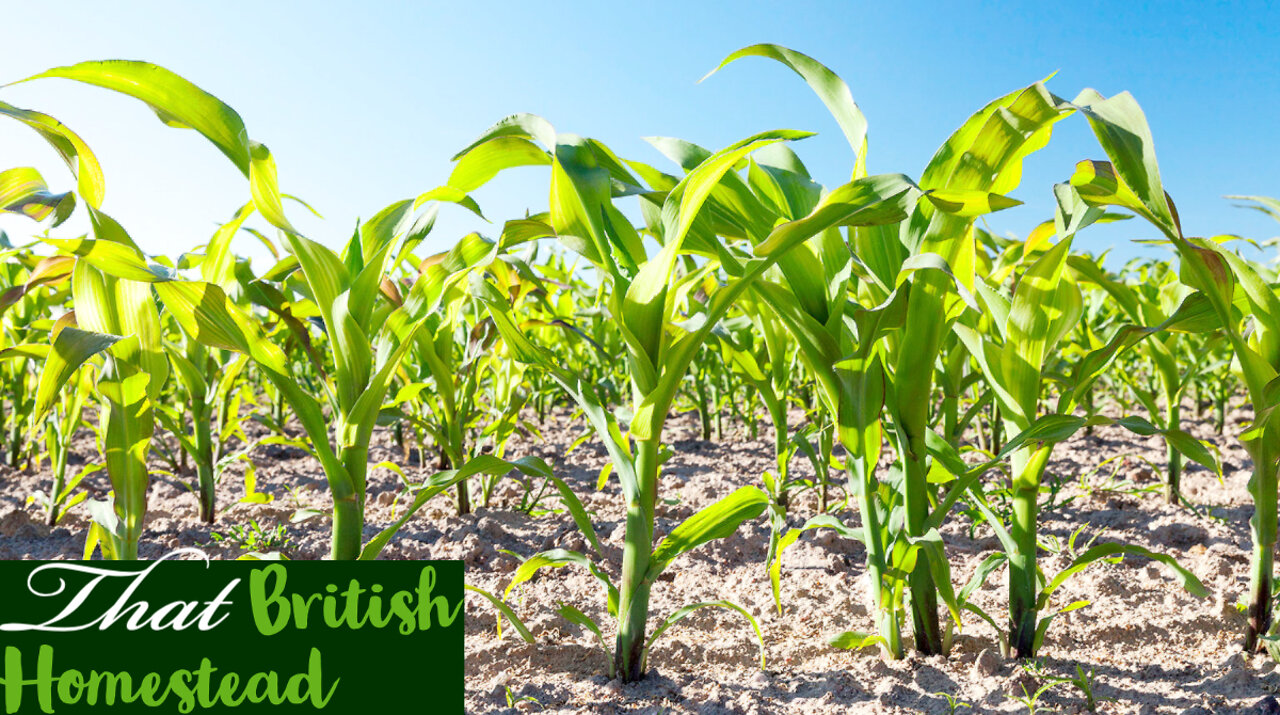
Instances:
[[[1256,508],[1247,647],[1275,647],[1275,270],[1238,252],[1247,243],[1235,237],[1183,234],[1133,97],[1085,90],[1065,100],[1036,82],[977,110],[915,178],[870,174],[868,120],[840,77],[774,45],[739,50],[713,73],[750,56],[794,70],[829,110],[849,143],[846,183],[810,175],[797,153],[809,132],[763,130],[719,150],[650,139],[671,162],[663,169],[520,114],[462,148],[444,183],[361,221],[337,251],[293,226],[288,212],[311,207],[282,192],[271,152],[187,79],[120,60],[28,78],[145,102],[207,139],[248,192],[207,240],[147,255],[104,211],[105,173],[81,136],[0,101],[74,179],[55,193],[33,168],[0,173],[0,208],[40,226],[28,244],[0,237],[5,463],[47,462],[52,478],[32,504],[50,524],[83,504],[86,554],[115,559],[138,555],[155,477],[187,485],[206,523],[229,508],[233,467],[244,475],[241,503],[271,499],[253,483],[257,446],[293,446],[319,463],[333,559],[376,558],[434,498],[452,499],[458,514],[493,507],[515,477],[515,508],[543,513],[553,494],[589,549],[534,554],[504,595],[484,596],[527,637],[511,593],[541,569],[588,569],[612,625],[573,604],[558,610],[599,638],[611,674],[636,680],[654,641],[695,610],[740,613],[759,634],[727,600],[689,604],[657,625],[650,614],[676,559],[759,518],[771,532],[762,581],[780,613],[785,553],[805,532],[865,546],[872,627],[831,643],[891,657],[947,652],[965,620],[1032,657],[1055,617],[1083,605],[1056,604],[1062,585],[1126,554],[1203,595],[1167,555],[1080,533],[1065,546],[1046,540],[1046,475],[1059,445],[1117,426],[1160,436],[1165,499],[1185,503],[1188,463],[1222,472],[1213,446],[1183,428],[1187,412],[1207,411],[1222,432],[1243,393],[1252,422],[1238,439],[1253,459]],[[1023,164],[1073,115],[1092,127],[1100,159],[1065,169],[1069,179],[1050,187],[1053,215],[1025,238],[986,230],[986,216],[1020,203]],[[481,215],[472,194],[530,166],[547,173],[545,211],[422,255],[439,211]],[[1238,198],[1280,215],[1274,200]],[[91,230],[67,237],[77,211]],[[1074,248],[1091,225],[1134,216],[1176,260],[1112,271]],[[271,256],[265,270],[233,249],[246,239]],[[614,489],[625,513],[617,564],[603,562],[593,514],[547,462],[508,458],[559,411],[608,454],[596,489]],[[704,440],[767,431],[772,466],[751,476],[759,486],[658,533],[668,420],[681,411],[696,413]],[[370,463],[379,427],[399,464]],[[97,457],[73,469],[82,432]],[[366,540],[367,475],[384,466],[430,476],[406,480],[410,508]],[[106,500],[81,489],[97,471]],[[1001,545],[965,583],[945,537],[956,522]],[[1065,550],[1069,565],[1044,573],[1046,549]],[[1004,619],[970,600],[1001,572]]]

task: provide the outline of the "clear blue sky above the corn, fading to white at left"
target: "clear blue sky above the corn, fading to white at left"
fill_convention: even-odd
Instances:
[[[35,3],[5,8],[0,83],[90,59],[145,59],[216,95],[275,153],[284,191],[325,220],[291,216],[338,246],[357,216],[444,182],[449,156],[517,111],[671,170],[644,136],[719,148],[773,128],[819,132],[795,145],[827,185],[851,153],[804,83],[763,59],[696,81],[730,51],[777,42],[819,59],[852,88],[870,123],[869,168],[919,177],[938,145],[988,100],[1052,72],[1050,88],[1132,91],[1190,234],[1266,238],[1280,225],[1225,193],[1280,196],[1280,10],[1266,3]],[[106,171],[105,210],[148,252],[207,239],[247,198],[241,174],[193,132],[160,124],[128,97],[47,79],[0,98],[79,132]],[[1025,234],[1051,217],[1051,187],[1101,157],[1080,116],[1059,124],[991,219]],[[55,189],[70,179],[20,124],[0,124],[0,166],[32,165]],[[500,221],[545,208],[545,171],[476,194]],[[429,248],[497,233],[448,207]],[[0,219],[15,239],[29,221]],[[74,224],[72,228],[82,224]],[[1091,229],[1078,247],[1117,256],[1152,238],[1139,221]],[[237,248],[256,253],[250,237]],[[1148,249],[1149,251],[1149,249]],[[266,266],[257,265],[257,270]]]

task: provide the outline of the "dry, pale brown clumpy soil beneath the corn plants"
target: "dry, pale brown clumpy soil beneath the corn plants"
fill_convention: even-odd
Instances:
[[[800,418],[799,414],[795,416]],[[963,632],[947,656],[908,656],[882,660],[874,650],[842,651],[826,643],[842,631],[872,631],[865,601],[863,547],[833,532],[810,531],[785,555],[783,611],[773,605],[765,577],[769,531],[763,519],[744,524],[733,536],[681,556],[653,588],[650,628],[682,605],[730,599],[748,609],[764,632],[767,665],[754,633],[739,614],[704,609],[672,627],[653,647],[648,678],[621,684],[605,675],[607,656],[595,636],[556,613],[568,602],[602,624],[607,640],[612,624],[599,582],[585,569],[545,569],[509,597],[516,613],[536,638],[524,642],[507,625],[499,640],[497,611],[483,597],[468,593],[466,623],[466,701],[468,712],[947,712],[942,693],[969,705],[959,712],[1027,712],[1012,696],[1025,687],[1034,693],[1047,677],[1075,675],[1076,666],[1093,673],[1093,693],[1100,712],[1280,712],[1272,695],[1280,673],[1265,656],[1242,652],[1244,615],[1236,601],[1248,587],[1248,549],[1252,514],[1245,485],[1248,455],[1234,435],[1249,414],[1230,413],[1228,436],[1207,422],[1184,425],[1221,452],[1224,478],[1189,466],[1184,494],[1199,513],[1165,504],[1160,494],[1164,445],[1158,437],[1134,436],[1116,427],[1098,427],[1060,445],[1050,464],[1050,477],[1062,489],[1041,518],[1041,533],[1066,544],[1084,527],[1082,538],[1125,541],[1169,554],[1194,572],[1210,595],[1187,593],[1160,564],[1126,556],[1117,564],[1100,564],[1076,576],[1053,599],[1061,609],[1076,601],[1091,604],[1059,615],[1041,651],[1041,668],[1028,669],[998,655],[995,631],[977,617],[965,615]],[[255,425],[255,427],[257,427]],[[591,513],[603,554],[593,554],[563,509],[554,489],[522,477],[499,482],[488,507],[458,517],[444,498],[428,504],[383,551],[390,559],[462,559],[467,582],[494,593],[509,583],[521,558],[563,547],[603,556],[604,570],[618,579],[622,551],[623,504],[616,480],[596,491],[604,449],[588,440],[566,450],[584,431],[582,421],[558,412],[541,426],[541,439],[517,437],[507,457],[543,457],[556,467]],[[657,535],[731,490],[759,483],[773,468],[772,435],[762,425],[758,439],[736,428],[721,441],[699,439],[696,421],[678,416],[668,423],[667,440],[675,450],[664,467],[663,500],[658,505]],[[253,439],[265,434],[252,434]],[[292,559],[324,558],[329,524],[325,517],[293,523],[300,508],[325,509],[326,485],[319,466],[297,448],[257,444],[248,452],[256,466],[257,490],[273,496],[270,504],[236,503],[244,494],[244,463],[238,462],[219,487],[219,521],[212,527],[196,519],[195,495],[183,480],[156,477],[146,522],[142,558],[155,558],[178,546],[198,546],[215,558],[243,553],[232,526],[257,522],[270,532],[284,526],[287,542],[266,546]],[[1100,464],[1114,458],[1100,468]],[[91,436],[77,444],[73,469],[96,459]],[[389,432],[375,436],[372,464],[403,455]],[[1112,469],[1117,468],[1115,475]],[[812,475],[801,458],[792,464],[799,476]],[[431,472],[417,455],[404,468],[408,481]],[[840,477],[842,480],[842,477]],[[991,478],[996,478],[992,476]],[[84,487],[92,496],[106,494],[105,475],[91,475]],[[87,512],[76,508],[58,527],[42,524],[27,495],[47,490],[47,473],[28,475],[0,469],[0,558],[74,559],[83,551]],[[479,491],[479,482],[475,483]],[[833,491],[844,500],[840,489]],[[1048,496],[1046,495],[1046,499]],[[479,496],[476,496],[479,501]],[[366,540],[389,524],[408,501],[399,475],[371,468]],[[851,505],[849,505],[851,507]],[[813,515],[817,495],[795,500],[790,524]],[[856,524],[851,508],[838,512]],[[964,514],[952,514],[945,526],[952,582],[965,583],[978,564],[998,550],[987,526],[972,530]],[[214,538],[214,533],[223,538]],[[259,545],[261,546],[261,544]],[[1042,568],[1051,577],[1070,562],[1066,554],[1043,554]],[[977,591],[974,602],[1004,623],[1005,570],[997,570]],[[1061,684],[1039,698],[1041,707],[1084,712],[1083,693]]]

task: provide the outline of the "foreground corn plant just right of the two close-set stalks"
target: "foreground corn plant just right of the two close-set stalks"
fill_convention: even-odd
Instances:
[[[1016,449],[1009,446],[1005,449],[1009,455],[1012,500],[1012,514],[1007,528],[1005,519],[987,505],[979,492],[974,492],[975,505],[995,530],[1007,556],[1009,638],[1018,657],[1034,657],[1039,650],[1044,633],[1056,615],[1050,613],[1041,618],[1041,611],[1047,609],[1053,591],[1068,577],[1098,559],[1125,553],[1151,558],[1169,565],[1192,593],[1197,596],[1206,593],[1199,581],[1171,558],[1121,544],[1091,547],[1079,554],[1061,573],[1046,579],[1037,565],[1037,553],[1041,547],[1037,524],[1042,478],[1055,445],[1091,422],[1115,422],[1142,435],[1161,434],[1170,444],[1187,452],[1192,459],[1215,472],[1219,471],[1217,460],[1208,448],[1178,428],[1157,428],[1140,418],[1112,421],[1105,417],[1091,420],[1073,414],[1080,395],[1087,393],[1091,382],[1111,363],[1116,353],[1164,330],[1194,327],[1190,324],[1203,322],[1207,306],[1201,301],[1184,302],[1157,326],[1121,327],[1107,345],[1091,352],[1075,366],[1062,388],[1056,411],[1042,417],[1042,412],[1046,412],[1042,395],[1046,393],[1048,380],[1047,361],[1053,356],[1059,343],[1075,327],[1083,312],[1080,290],[1073,272],[1068,270],[1071,242],[1076,232],[1102,214],[1101,210],[1085,205],[1071,187],[1059,185],[1055,193],[1059,201],[1056,219],[1059,242],[1021,272],[1012,298],[1005,298],[991,287],[983,287],[980,292],[995,330],[984,335],[963,324],[955,327],[996,394],[1006,431],[1023,435],[1025,441]],[[954,463],[954,459],[952,457],[950,462]]]

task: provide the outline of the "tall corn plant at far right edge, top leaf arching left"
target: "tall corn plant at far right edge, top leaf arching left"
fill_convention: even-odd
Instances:
[[[1075,104],[1089,119],[1110,161],[1082,161],[1071,184],[1084,201],[1119,206],[1146,219],[1174,246],[1180,280],[1196,289],[1217,317],[1239,363],[1254,421],[1240,441],[1253,459],[1249,494],[1254,513],[1245,650],[1274,643],[1276,489],[1280,478],[1280,298],[1258,267],[1217,240],[1183,233],[1165,192],[1147,118],[1128,92],[1103,97],[1085,90]]]

